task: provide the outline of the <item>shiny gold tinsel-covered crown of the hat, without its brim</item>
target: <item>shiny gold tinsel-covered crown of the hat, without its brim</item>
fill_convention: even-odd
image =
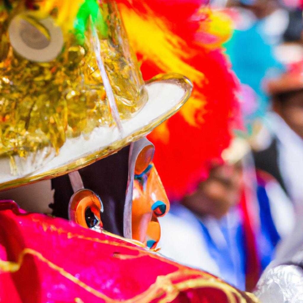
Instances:
[[[0,156],[12,175],[41,168],[69,138],[121,133],[148,99],[113,1],[5,1],[0,37]]]

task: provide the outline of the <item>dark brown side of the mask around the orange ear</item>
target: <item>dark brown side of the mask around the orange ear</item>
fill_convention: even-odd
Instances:
[[[102,200],[101,221],[106,231],[123,236],[123,211],[128,180],[129,146],[79,170],[84,188]],[[68,175],[52,179],[55,189],[53,215],[68,219],[68,203],[74,194]]]

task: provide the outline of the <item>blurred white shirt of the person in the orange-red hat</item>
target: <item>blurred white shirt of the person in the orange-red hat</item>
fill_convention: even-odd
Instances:
[[[283,224],[294,225],[292,232],[278,244],[276,260],[269,266],[272,267],[283,263],[303,245],[303,140],[278,114],[269,115],[269,125],[278,139],[278,166],[293,206],[292,209],[289,206],[288,212],[285,209],[280,218],[287,221]],[[276,197],[275,204],[281,210],[279,203]]]

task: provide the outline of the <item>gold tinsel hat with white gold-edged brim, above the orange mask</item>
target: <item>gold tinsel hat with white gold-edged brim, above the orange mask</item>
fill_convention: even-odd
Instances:
[[[0,189],[108,156],[190,95],[182,75],[143,82],[111,0],[6,1],[0,20]]]

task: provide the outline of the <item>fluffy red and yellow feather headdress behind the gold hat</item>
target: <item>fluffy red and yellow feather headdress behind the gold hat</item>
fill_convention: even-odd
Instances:
[[[149,135],[163,185],[178,200],[207,177],[231,139],[238,82],[221,46],[231,20],[203,0],[122,0],[119,7],[143,78],[178,72],[194,83],[188,102]]]

